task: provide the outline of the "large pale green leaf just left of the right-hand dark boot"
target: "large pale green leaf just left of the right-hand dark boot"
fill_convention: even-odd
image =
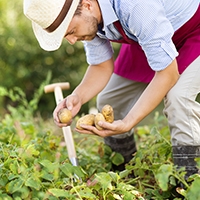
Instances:
[[[161,165],[158,169],[155,178],[158,182],[158,185],[163,191],[167,191],[169,176],[173,174],[173,167],[170,164]]]

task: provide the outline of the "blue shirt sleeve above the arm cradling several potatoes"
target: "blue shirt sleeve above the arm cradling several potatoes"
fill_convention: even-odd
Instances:
[[[122,5],[122,22],[129,34],[136,36],[154,71],[165,69],[178,55],[172,41],[173,27],[165,14],[162,1],[136,0],[134,7]]]

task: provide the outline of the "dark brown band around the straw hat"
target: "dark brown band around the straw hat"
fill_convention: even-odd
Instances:
[[[62,21],[64,20],[64,18],[66,17],[69,9],[70,9],[70,6],[72,4],[72,1],[73,0],[66,0],[64,5],[63,5],[63,8],[62,10],[60,11],[58,17],[55,19],[55,21],[50,25],[48,26],[47,28],[45,28],[45,30],[49,33],[55,31],[58,26],[62,23]]]

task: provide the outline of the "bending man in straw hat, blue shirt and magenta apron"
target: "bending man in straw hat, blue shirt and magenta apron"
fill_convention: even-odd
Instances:
[[[102,131],[84,124],[77,131],[104,137],[128,162],[136,151],[133,128],[164,99],[174,162],[186,167],[187,176],[198,171],[199,0],[25,0],[24,13],[45,50],[58,49],[63,38],[84,41],[89,67],[54,110],[59,127],[68,125],[58,120],[61,108],[75,116],[104,89],[98,108],[112,105],[115,121],[99,122]],[[110,41],[123,43],[115,68]]]

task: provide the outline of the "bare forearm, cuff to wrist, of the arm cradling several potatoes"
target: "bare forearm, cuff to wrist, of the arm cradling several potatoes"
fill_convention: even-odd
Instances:
[[[138,124],[158,106],[178,78],[176,61],[173,61],[165,70],[156,72],[151,83],[123,121],[131,128]]]

